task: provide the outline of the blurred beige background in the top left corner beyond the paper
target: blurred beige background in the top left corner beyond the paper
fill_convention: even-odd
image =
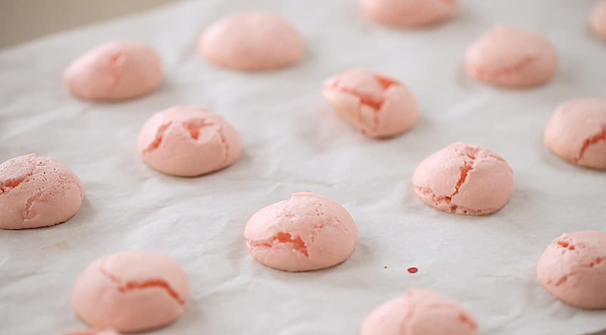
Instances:
[[[0,48],[179,0],[0,0]]]

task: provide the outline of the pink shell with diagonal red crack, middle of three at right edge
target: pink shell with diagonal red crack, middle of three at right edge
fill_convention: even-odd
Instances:
[[[576,99],[556,108],[545,145],[566,161],[606,169],[606,99]]]

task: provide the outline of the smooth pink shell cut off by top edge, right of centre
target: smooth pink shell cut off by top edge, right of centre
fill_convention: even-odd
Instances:
[[[374,21],[397,27],[431,25],[456,13],[456,0],[361,0],[362,14]]]

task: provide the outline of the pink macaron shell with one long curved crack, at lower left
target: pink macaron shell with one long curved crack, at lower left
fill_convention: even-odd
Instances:
[[[121,251],[84,270],[72,305],[92,327],[144,331],[175,321],[189,290],[187,274],[175,260],[151,251]]]

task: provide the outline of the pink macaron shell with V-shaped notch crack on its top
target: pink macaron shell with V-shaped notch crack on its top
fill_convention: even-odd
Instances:
[[[155,170],[193,177],[236,162],[242,153],[242,140],[219,114],[176,106],[145,122],[138,149],[143,161]]]

